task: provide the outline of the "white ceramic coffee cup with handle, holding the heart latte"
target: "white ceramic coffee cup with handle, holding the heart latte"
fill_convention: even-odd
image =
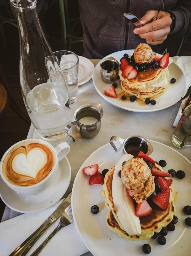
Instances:
[[[39,142],[40,144],[45,145],[46,147],[48,147],[51,152],[54,155],[54,166],[52,168],[52,170],[50,171],[50,173],[47,175],[47,177],[45,177],[43,180],[41,180],[39,183],[31,185],[31,186],[17,186],[17,185],[13,185],[11,184],[3,175],[2,172],[2,164],[3,164],[3,160],[6,157],[6,155],[9,153],[9,151],[14,148],[16,145],[20,144],[21,142]],[[58,173],[58,163],[60,160],[62,160],[62,158],[66,157],[66,155],[70,152],[70,146],[68,145],[68,143],[66,142],[61,142],[60,144],[58,144],[55,148],[48,142],[45,142],[43,140],[39,140],[39,139],[27,139],[27,140],[22,140],[17,142],[16,144],[12,145],[12,147],[10,147],[3,155],[1,162],[0,162],[0,176],[3,179],[3,181],[7,184],[7,186],[9,186],[11,189],[13,189],[14,191],[20,193],[20,194],[26,194],[26,195],[35,195],[35,194],[39,194],[41,192],[43,192],[44,190],[46,190],[54,181],[54,179],[56,178],[56,175]]]

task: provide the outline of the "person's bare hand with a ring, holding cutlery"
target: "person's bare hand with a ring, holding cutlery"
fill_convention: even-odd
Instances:
[[[146,14],[140,19],[143,27],[135,28],[134,34],[139,34],[140,37],[145,38],[148,44],[161,44],[170,33],[170,25],[172,19],[169,12],[160,11],[147,11]],[[152,42],[156,39],[155,42]]]

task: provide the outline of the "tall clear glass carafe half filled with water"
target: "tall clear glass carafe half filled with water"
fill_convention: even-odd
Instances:
[[[71,121],[66,81],[42,31],[37,0],[11,0],[20,36],[20,84],[30,119],[41,139],[57,143]]]

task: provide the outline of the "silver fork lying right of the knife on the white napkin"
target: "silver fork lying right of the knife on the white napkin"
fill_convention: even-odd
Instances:
[[[37,256],[37,255],[39,255],[41,250],[48,244],[50,239],[61,228],[68,226],[72,222],[73,222],[73,217],[72,217],[72,208],[71,208],[71,204],[70,204],[68,211],[66,213],[62,213],[58,226],[52,231],[52,233],[47,237],[47,239],[45,239],[44,242],[30,256]]]

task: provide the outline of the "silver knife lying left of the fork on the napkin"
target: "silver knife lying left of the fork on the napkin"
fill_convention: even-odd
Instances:
[[[54,221],[56,221],[63,212],[67,212],[70,204],[71,204],[71,196],[70,193],[65,200],[58,206],[58,208],[48,217],[46,221],[42,223],[42,225],[32,233],[30,237],[28,237],[19,247],[17,247],[9,256],[24,256],[28,253],[30,248],[34,245],[34,243],[42,236],[42,234],[51,226]]]

